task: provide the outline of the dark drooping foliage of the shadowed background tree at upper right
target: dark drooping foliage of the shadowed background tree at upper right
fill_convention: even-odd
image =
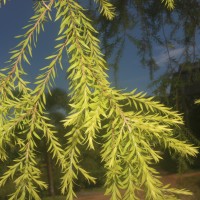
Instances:
[[[165,71],[162,70],[164,75],[154,84],[155,94],[163,95],[168,91],[173,73],[178,71],[180,64],[199,60],[199,1],[176,0],[173,10],[165,9],[165,5],[157,0],[112,2],[118,13],[113,21],[99,16],[94,6],[91,6],[93,12],[90,11],[97,21],[109,66],[114,67],[117,74],[125,44],[129,42],[137,49],[142,65],[149,68],[152,80],[154,73],[165,65]],[[161,66],[157,62],[156,49],[159,49],[159,53],[165,51],[166,64],[162,63]],[[176,50],[179,50],[178,56],[173,54]]]

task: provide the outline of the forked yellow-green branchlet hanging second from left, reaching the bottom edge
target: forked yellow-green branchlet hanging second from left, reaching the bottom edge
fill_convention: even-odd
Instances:
[[[44,136],[47,138],[47,142],[48,142],[48,151],[52,153],[52,157],[55,157],[57,162],[59,163],[59,165],[61,166],[62,169],[64,169],[66,167],[66,162],[63,159],[64,158],[64,152],[61,148],[60,143],[58,142],[58,138],[55,136],[55,131],[52,130],[52,125],[50,125],[48,123],[49,119],[44,116],[45,112],[45,105],[46,105],[46,98],[45,98],[45,89],[48,89],[50,91],[50,87],[51,87],[51,81],[53,81],[55,79],[55,66],[56,63],[61,62],[60,57],[62,56],[62,51],[65,48],[66,42],[64,42],[64,44],[62,44],[61,46],[58,45],[56,46],[57,48],[57,55],[52,55],[47,57],[47,59],[51,59],[50,64],[47,67],[42,68],[42,70],[46,70],[43,74],[39,75],[37,77],[38,81],[35,83],[37,84],[36,88],[31,91],[31,93],[28,95],[24,95],[21,100],[24,100],[24,105],[21,109],[21,112],[18,115],[15,115],[15,117],[10,120],[8,123],[6,123],[5,126],[8,126],[9,128],[3,127],[4,130],[10,130],[12,131],[12,135],[15,134],[15,129],[17,126],[19,126],[19,124],[23,121],[24,124],[26,124],[27,127],[29,127],[28,130],[24,129],[24,126],[20,126],[20,131],[17,134],[17,140],[20,140],[19,135],[27,135],[27,142],[25,144],[22,145],[22,147],[20,146],[20,152],[22,151],[22,153],[19,154],[19,157],[24,158],[27,157],[27,159],[29,158],[28,156],[30,155],[30,162],[25,162],[24,163],[24,170],[30,170],[33,171],[31,167],[34,167],[35,171],[36,171],[36,165],[37,162],[34,161],[33,158],[35,158],[35,155],[30,154],[31,152],[34,153],[35,149],[36,149],[36,139],[41,140],[41,136],[38,134],[38,131],[43,131],[44,132]],[[28,96],[28,99],[27,99]],[[30,101],[31,99],[31,101]],[[19,101],[19,103],[21,104],[21,101]],[[16,107],[19,107],[16,106]],[[16,134],[15,134],[16,135]],[[20,140],[21,141],[21,140]],[[21,145],[21,143],[20,143]],[[21,155],[22,154],[22,155]],[[34,161],[34,162],[33,162]],[[22,162],[21,159],[17,159],[16,162]],[[16,167],[19,167],[18,165],[16,165]],[[15,173],[18,172],[20,170],[20,168],[15,169]],[[39,170],[39,169],[38,169]],[[13,194],[13,199],[17,198],[17,199],[24,199],[24,197],[27,197],[28,195],[30,197],[36,197],[37,194],[37,190],[31,187],[34,186],[34,184],[29,185],[30,188],[28,186],[25,187],[26,182],[30,182],[31,180],[38,185],[40,188],[46,188],[46,185],[41,182],[39,180],[39,173],[37,173],[37,177],[31,175],[30,174],[30,180],[27,180],[24,178],[24,174],[26,171],[20,170],[20,172],[22,173],[21,176],[19,176],[16,180],[16,186],[19,190],[19,193],[14,193]],[[10,176],[13,176],[12,171],[8,170],[4,176],[2,177],[2,185],[8,180],[8,178],[10,176],[8,176],[8,174],[10,174]],[[32,179],[31,179],[32,178]],[[17,181],[18,179],[22,179],[24,182],[22,184],[21,181]],[[0,184],[1,184],[0,182]],[[25,187],[25,189],[24,189]],[[28,192],[27,195],[27,191],[29,191],[29,189],[32,189],[31,193]],[[19,196],[21,195],[21,196]],[[38,196],[38,195],[37,195]],[[38,199],[39,196],[36,198]]]

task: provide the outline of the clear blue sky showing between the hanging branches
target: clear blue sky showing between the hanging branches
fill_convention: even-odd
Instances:
[[[4,62],[9,59],[9,50],[19,42],[18,39],[14,39],[14,36],[24,33],[22,27],[27,24],[33,14],[32,6],[33,0],[8,0],[6,6],[0,8],[0,68],[3,68]],[[44,57],[54,52],[54,39],[58,28],[58,24],[48,23],[45,32],[41,32],[37,48],[33,51],[32,64],[24,66],[25,71],[29,74],[29,81],[34,82],[39,69],[45,66]],[[166,53],[160,49],[157,51],[158,62],[162,65],[166,61]],[[178,54],[179,51],[181,49],[175,53]],[[138,88],[138,91],[151,93],[151,90],[147,88],[150,83],[149,71],[141,66],[139,60],[136,49],[126,42],[118,71],[118,86],[120,89],[127,88],[129,91]],[[64,62],[67,63],[67,60]],[[109,71],[109,77],[109,80],[114,82],[112,70]],[[62,71],[58,71],[56,86],[67,90],[66,76]]]

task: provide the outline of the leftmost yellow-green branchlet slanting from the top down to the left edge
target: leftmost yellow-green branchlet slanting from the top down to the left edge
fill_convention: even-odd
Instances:
[[[52,3],[53,1],[49,3],[49,6],[52,6]],[[18,91],[18,93],[27,95],[30,92],[27,86],[28,82],[22,78],[23,75],[26,75],[22,67],[22,62],[25,61],[30,64],[28,57],[32,57],[32,45],[36,45],[37,35],[40,33],[40,29],[44,29],[43,24],[47,20],[46,14],[47,10],[44,8],[35,8],[35,14],[30,18],[29,25],[24,27],[27,31],[23,35],[17,36],[17,38],[23,38],[23,40],[10,52],[11,57],[7,62],[9,65],[1,70],[4,72],[0,73],[1,127],[7,124],[7,120],[9,119],[8,113],[15,115],[15,112],[12,110],[17,109],[15,106],[19,103],[19,98],[13,92]],[[24,105],[21,106],[24,107]],[[20,110],[20,108],[18,109]],[[10,136],[5,130],[1,128],[1,159],[6,158],[4,149],[10,141]]]

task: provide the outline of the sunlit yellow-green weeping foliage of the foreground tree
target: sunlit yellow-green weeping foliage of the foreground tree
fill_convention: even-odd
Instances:
[[[113,5],[106,0],[96,2],[101,13],[112,20],[115,16]],[[165,2],[172,7],[172,0]],[[36,46],[40,30],[51,19],[52,10],[56,12],[55,20],[60,23],[56,52],[46,58],[49,65],[41,68],[43,73],[32,89],[23,79],[26,73],[22,64],[30,64],[32,46]],[[144,93],[137,94],[135,90],[126,93],[110,87],[97,31],[80,4],[73,0],[50,0],[48,4],[39,1],[34,4],[34,11],[24,27],[26,32],[17,36],[21,41],[11,51],[9,65],[0,74],[1,160],[7,159],[6,148],[11,143],[18,148],[18,156],[0,179],[0,186],[10,178],[16,185],[9,199],[40,199],[38,188],[47,188],[37,163],[37,144],[43,137],[62,170],[61,191],[66,193],[68,200],[76,196],[74,182],[78,174],[95,182],[95,178],[81,167],[79,158],[80,147],[86,144],[88,149],[94,149],[97,137],[103,140],[99,153],[106,169],[105,187],[110,199],[138,199],[140,189],[147,199],[153,200],[179,199],[175,194],[190,194],[163,185],[152,166],[161,159],[156,150],[161,146],[183,157],[197,154],[195,147],[176,139],[173,132],[173,128],[183,123],[181,114],[152,97],[145,97]],[[63,120],[68,128],[67,145],[63,147],[45,111],[45,91],[51,93],[56,67],[62,68],[65,50],[70,64],[67,72],[71,111]],[[19,90],[21,97],[13,96],[13,90]],[[134,109],[127,110],[127,105]],[[125,193],[121,194],[121,189]]]

